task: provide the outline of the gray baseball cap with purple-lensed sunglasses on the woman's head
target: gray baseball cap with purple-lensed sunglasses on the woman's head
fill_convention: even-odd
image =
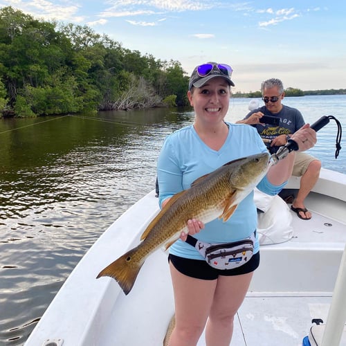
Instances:
[[[232,80],[230,80],[232,71],[233,70],[229,65],[218,64],[217,62],[207,62],[206,64],[196,66],[190,77],[189,90],[192,89],[192,86],[200,88],[206,84],[206,82],[215,77],[222,77],[229,85],[235,86]]]

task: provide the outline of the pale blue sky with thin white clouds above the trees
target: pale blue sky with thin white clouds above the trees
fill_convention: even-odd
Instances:
[[[233,68],[235,92],[346,89],[346,2],[322,0],[0,0],[36,19],[90,26],[123,48],[175,60],[190,75],[205,62]]]

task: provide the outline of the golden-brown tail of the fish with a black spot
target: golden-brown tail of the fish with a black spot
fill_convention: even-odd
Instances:
[[[129,291],[131,291],[134,286],[140,268],[144,263],[144,259],[138,262],[132,258],[135,252],[136,248],[119,257],[118,260],[115,260],[109,264],[109,266],[100,271],[96,279],[101,276],[113,277],[113,279],[118,282],[125,295],[129,294]]]

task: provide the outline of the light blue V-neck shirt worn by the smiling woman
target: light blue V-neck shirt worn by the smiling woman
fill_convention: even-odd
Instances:
[[[262,138],[255,128],[244,124],[226,122],[229,131],[224,145],[218,151],[203,143],[192,125],[184,127],[165,139],[158,158],[159,203],[177,192],[190,188],[200,176],[208,174],[229,161],[237,158],[266,152]],[[267,194],[277,194],[280,186],[272,185],[266,176],[257,185],[259,190]],[[253,202],[253,192],[239,203],[228,221],[215,219],[208,222],[205,228],[194,235],[203,242],[226,243],[236,242],[249,237],[257,226],[257,208]],[[255,251],[259,251],[258,240]],[[190,244],[181,239],[170,246],[170,253],[196,260],[203,260],[201,254]]]

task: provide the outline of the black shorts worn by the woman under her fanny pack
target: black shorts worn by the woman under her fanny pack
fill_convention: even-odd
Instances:
[[[169,255],[168,261],[172,262],[174,268],[180,273],[202,280],[215,280],[219,275],[233,276],[242,275],[255,271],[260,265],[260,251],[251,257],[250,261],[239,268],[217,269],[212,268],[205,260],[191,260],[190,258]]]

